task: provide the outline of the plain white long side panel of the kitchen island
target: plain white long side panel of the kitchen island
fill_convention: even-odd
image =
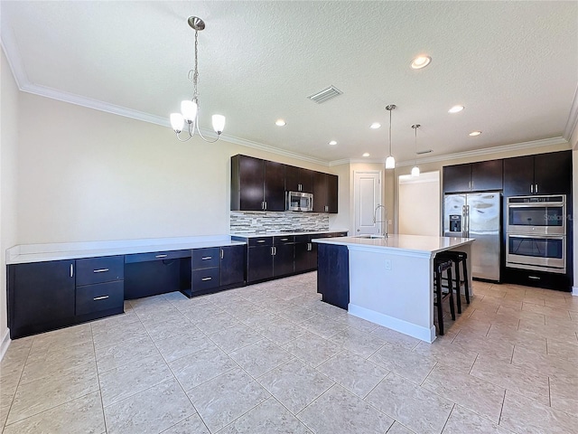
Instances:
[[[432,253],[350,246],[348,310],[351,315],[433,342]]]

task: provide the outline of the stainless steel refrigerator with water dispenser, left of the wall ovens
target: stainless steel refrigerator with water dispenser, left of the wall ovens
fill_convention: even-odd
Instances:
[[[446,194],[443,236],[475,238],[471,245],[471,276],[499,281],[501,248],[499,192]]]

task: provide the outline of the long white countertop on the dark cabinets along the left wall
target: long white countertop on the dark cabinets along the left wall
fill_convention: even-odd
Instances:
[[[242,241],[231,241],[228,235],[22,244],[6,250],[6,265],[243,244]]]

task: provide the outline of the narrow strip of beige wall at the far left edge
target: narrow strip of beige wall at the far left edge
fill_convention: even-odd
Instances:
[[[16,244],[16,158],[18,88],[2,51],[0,59],[0,357],[8,341],[6,316],[6,249]],[[5,340],[6,339],[6,340]]]

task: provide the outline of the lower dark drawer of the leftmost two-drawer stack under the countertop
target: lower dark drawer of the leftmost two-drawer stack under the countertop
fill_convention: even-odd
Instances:
[[[76,288],[76,315],[122,308],[125,302],[125,282],[98,283]]]

